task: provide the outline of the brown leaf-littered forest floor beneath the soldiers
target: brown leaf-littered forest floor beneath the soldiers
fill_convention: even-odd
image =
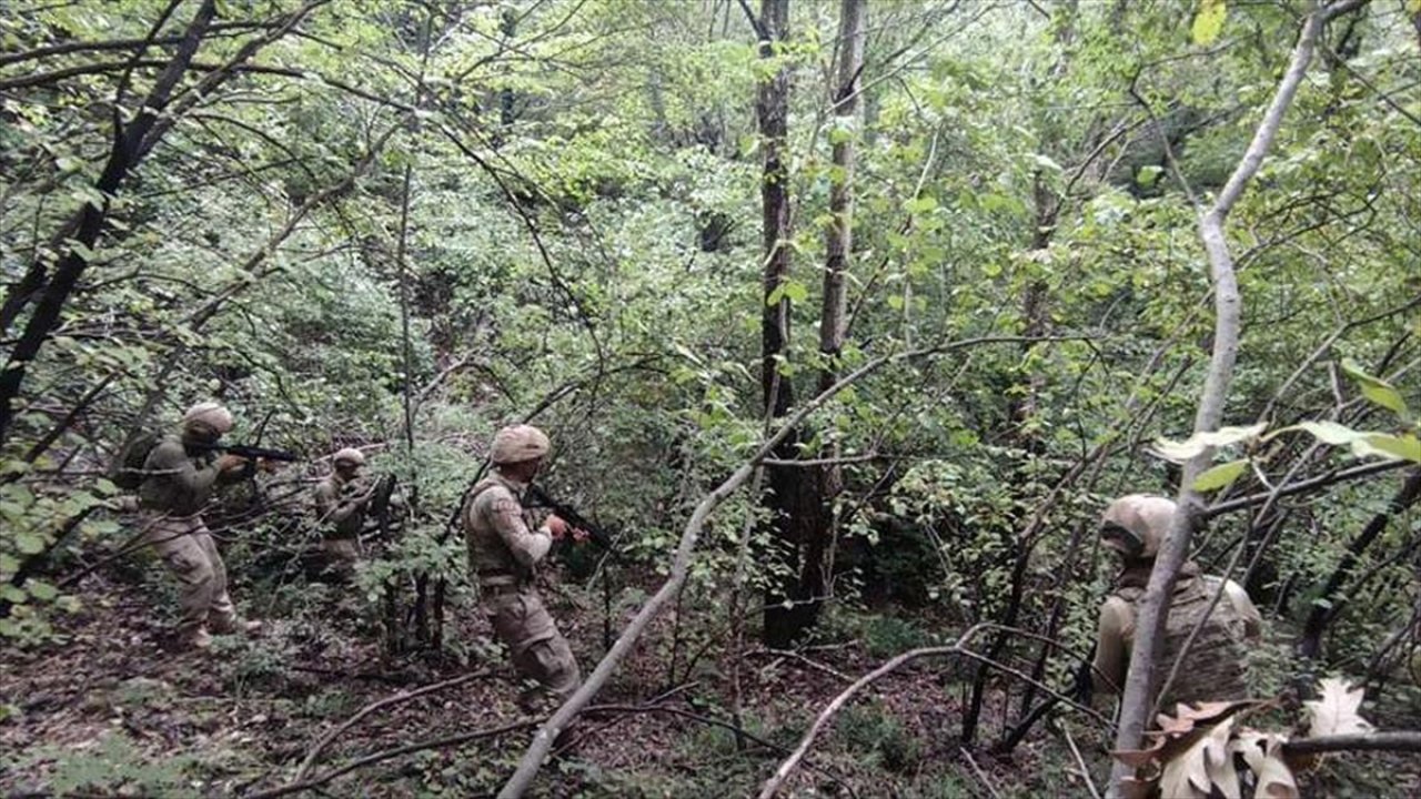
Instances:
[[[269,617],[261,637],[219,638],[207,653],[171,653],[163,645],[166,620],[159,621],[173,607],[168,590],[152,581],[90,577],[81,589],[85,608],[64,620],[58,641],[3,655],[0,751],[9,755],[0,759],[0,795],[260,795],[294,782],[313,744],[362,707],[466,674],[476,677],[371,712],[334,739],[306,775],[331,779],[306,795],[496,790],[527,742],[527,726],[394,754],[530,718],[514,701],[519,687],[487,644],[485,623],[475,613],[453,616],[450,648],[462,651],[460,658],[381,663],[374,624],[361,618],[354,597],[340,599],[330,589],[306,589],[304,611]],[[601,601],[577,589],[547,597],[584,671],[590,670],[603,651]],[[256,610],[264,604],[243,603],[240,593],[236,599]],[[632,603],[622,604],[625,617]],[[706,626],[705,617],[658,620],[597,698],[597,705],[612,708],[578,726],[576,754],[544,768],[539,796],[753,795],[824,704],[891,650],[911,645],[894,638],[904,630],[894,623],[857,633],[843,627],[848,637],[801,655],[749,648],[742,661],[740,724],[759,742],[737,749],[735,734],[716,724],[732,718],[733,664],[709,643],[726,633]],[[716,623],[723,626],[723,616]],[[1088,796],[1060,729],[1053,735],[1046,724],[1010,759],[975,754],[968,761],[958,742],[968,674],[963,667],[925,663],[875,684],[840,714],[783,795]],[[983,736],[1000,732],[1006,717],[993,691]],[[1100,734],[1083,718],[1069,729],[1100,779],[1108,771]],[[374,754],[392,756],[335,775]],[[1414,763],[1366,763],[1364,773],[1377,768],[1385,779],[1319,795],[1421,795]],[[1339,782],[1356,783],[1350,776]]]

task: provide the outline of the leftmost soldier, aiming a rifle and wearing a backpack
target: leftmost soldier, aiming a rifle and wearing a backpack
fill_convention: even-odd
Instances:
[[[144,543],[182,584],[178,640],[199,650],[212,645],[212,633],[261,628],[260,621],[237,620],[227,596],[227,569],[202,520],[213,486],[246,479],[254,466],[237,455],[217,456],[215,445],[230,429],[232,414],[222,405],[193,405],[180,431],[148,452],[138,489]]]

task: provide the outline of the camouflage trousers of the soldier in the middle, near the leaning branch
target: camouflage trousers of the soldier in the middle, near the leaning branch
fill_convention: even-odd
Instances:
[[[567,638],[557,630],[551,614],[543,606],[537,589],[485,589],[485,613],[493,626],[499,641],[513,655],[513,668],[519,677],[536,682],[524,691],[520,704],[537,709],[553,697],[566,699],[583,684],[583,672],[577,668]]]

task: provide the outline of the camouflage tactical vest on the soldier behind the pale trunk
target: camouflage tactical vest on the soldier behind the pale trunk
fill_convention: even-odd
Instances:
[[[1169,620],[1164,631],[1164,650],[1155,657],[1154,680],[1158,687],[1169,677],[1175,657],[1189,640],[1189,633],[1209,608],[1214,594],[1222,587],[1218,577],[1181,580],[1169,603]],[[1123,587],[1115,596],[1130,603],[1140,618],[1140,597],[1144,589]],[[1248,648],[1243,643],[1243,617],[1228,596],[1219,597],[1214,613],[1194,638],[1185,663],[1179,665],[1161,712],[1174,714],[1177,702],[1219,702],[1248,698]]]

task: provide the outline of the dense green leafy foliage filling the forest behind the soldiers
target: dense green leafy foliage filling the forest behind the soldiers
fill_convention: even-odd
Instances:
[[[833,4],[791,3],[789,40],[760,58],[728,0],[358,0],[313,6],[288,31],[297,0],[216,3],[217,27],[165,112],[172,127],[98,196],[115,121],[141,112],[196,6],[163,17],[158,0],[36,4],[0,20],[7,368],[37,318],[27,281],[67,253],[87,263],[0,434],[0,638],[14,645],[63,638],[102,599],[80,576],[141,557],[124,549],[138,518],[102,475],[124,442],[207,398],[234,411],[230,438],[306,459],[209,513],[244,607],[323,620],[334,591],[303,573],[320,536],[308,492],[327,454],[360,445],[399,478],[411,513],[342,600],[374,627],[387,600],[414,618],[443,586],[446,623],[476,617],[449,519],[493,431],[531,418],[554,439],[541,479],[620,536],[612,617],[625,617],[668,569],[691,509],[766,429],[755,97],[780,67],[794,233],[777,293],[794,336],[769,368],[803,400],[828,365],[848,374],[993,338],[894,360],[809,419],[796,456],[844,459],[820,638],[882,660],[1010,620],[1066,645],[1000,636],[1000,660],[1061,685],[1079,655],[1063,653],[1088,648],[1113,566],[1091,542],[1110,498],[1174,493],[1174,463],[1206,446],[1218,462],[1196,488],[1216,502],[1360,461],[1421,462],[1421,125],[1407,94],[1421,67],[1400,4],[1329,24],[1232,215],[1238,377],[1226,427],[1184,442],[1167,436],[1191,428],[1211,327],[1196,209],[1246,146],[1303,3],[871,3],[853,124],[830,121]],[[202,82],[249,47],[242,68]],[[826,358],[813,331],[844,176],[831,148],[845,142],[851,318]],[[104,223],[75,249],[85,208]],[[1349,554],[1393,495],[1385,475],[1314,489],[1268,519],[1218,519],[1194,556],[1212,567],[1242,546],[1275,628],[1349,608],[1323,667],[1370,664],[1394,636],[1405,645],[1376,663],[1408,663],[1414,515]],[[740,557],[759,499],[743,492],[709,520],[684,640],[658,657],[719,651],[729,613],[753,604],[743,596],[786,576],[766,566],[763,536]],[[595,573],[578,559],[574,583]],[[1344,564],[1353,577],[1326,591]],[[171,600],[148,572],[128,576]],[[446,651],[489,655],[486,638],[446,627]],[[402,643],[431,643],[421,633]],[[239,691],[280,684],[291,655],[222,654],[242,667]],[[1275,664],[1269,681],[1290,670]],[[992,690],[1009,728],[1026,690]],[[1218,739],[1195,744],[1205,773],[1222,768]],[[1246,754],[1272,762],[1266,741]],[[764,765],[736,758],[725,785],[749,792]],[[421,761],[421,779],[493,782],[487,762],[449,768]],[[716,773],[701,776],[695,790],[713,793]],[[904,792],[975,789],[959,776]]]

